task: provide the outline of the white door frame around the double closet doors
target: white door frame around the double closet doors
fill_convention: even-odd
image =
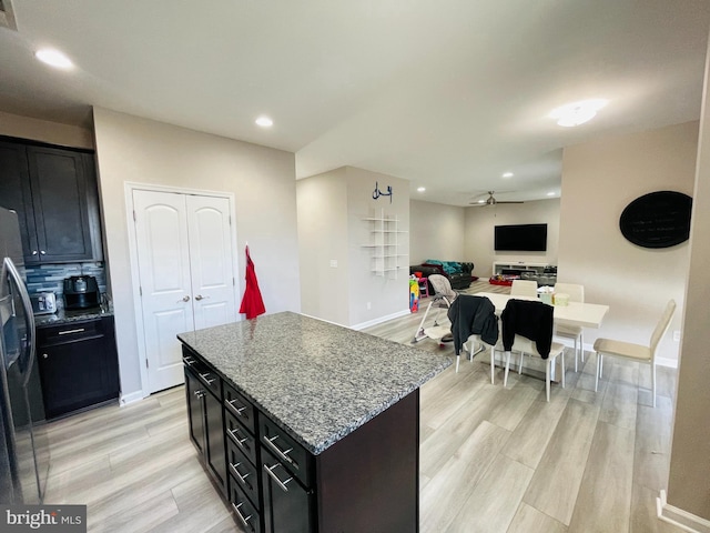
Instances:
[[[234,193],[223,191],[206,191],[201,189],[186,189],[181,187],[156,185],[153,183],[138,183],[126,181],[123,184],[125,194],[125,221],[129,234],[129,259],[131,261],[131,294],[133,296],[133,316],[135,318],[135,338],[138,341],[138,362],[141,369],[141,390],[143,398],[150,395],[148,390],[148,369],[145,368],[145,331],[143,329],[143,305],[141,302],[141,284],[138,265],[138,235],[135,234],[135,223],[133,220],[133,191],[173,192],[180,194],[196,194],[201,197],[226,198],[230,201],[230,217],[232,218],[232,250],[234,250],[234,301],[239,304],[241,294],[241,280],[239,273],[239,251],[236,248],[236,213],[234,211]],[[239,309],[239,308],[237,308]],[[236,320],[241,320],[237,313]]]

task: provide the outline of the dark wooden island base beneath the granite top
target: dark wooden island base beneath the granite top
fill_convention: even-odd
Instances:
[[[183,361],[190,438],[244,531],[418,531],[418,390],[314,455],[186,346]]]

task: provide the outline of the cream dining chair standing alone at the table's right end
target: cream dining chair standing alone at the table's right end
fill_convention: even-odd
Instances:
[[[646,363],[651,366],[651,393],[653,394],[653,406],[656,406],[656,352],[658,351],[660,340],[668,331],[668,328],[670,328],[670,321],[674,312],[676,301],[671,299],[668,304],[666,304],[666,310],[656,325],[653,333],[651,333],[651,340],[648,345],[613,339],[597,339],[595,341],[595,352],[597,352],[595,392],[599,388],[599,379],[601,378],[602,356],[611,355],[613,358],[638,361],[639,363]]]

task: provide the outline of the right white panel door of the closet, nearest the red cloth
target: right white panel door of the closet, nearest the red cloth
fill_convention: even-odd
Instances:
[[[195,329],[236,320],[230,201],[189,195],[187,234]]]

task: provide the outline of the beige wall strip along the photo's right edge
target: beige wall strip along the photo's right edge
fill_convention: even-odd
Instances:
[[[668,503],[710,521],[710,98],[706,86],[693,193],[690,265],[678,373]],[[707,531],[701,530],[701,531]]]

